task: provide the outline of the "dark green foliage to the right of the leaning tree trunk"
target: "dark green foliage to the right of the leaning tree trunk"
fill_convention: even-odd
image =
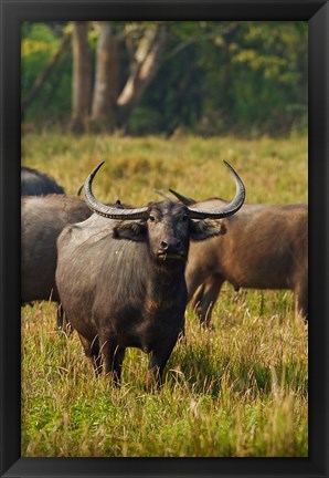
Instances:
[[[181,49],[179,49],[181,45]],[[307,125],[306,22],[176,22],[130,131],[289,134]],[[149,111],[149,126],[138,115]],[[155,113],[157,117],[155,122]]]

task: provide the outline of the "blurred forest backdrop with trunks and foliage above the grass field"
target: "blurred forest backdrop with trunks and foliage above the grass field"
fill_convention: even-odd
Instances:
[[[75,133],[305,133],[307,23],[23,23],[22,118]]]

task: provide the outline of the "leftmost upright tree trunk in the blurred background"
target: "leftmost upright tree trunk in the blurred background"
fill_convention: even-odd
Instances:
[[[73,22],[72,131],[86,129],[91,107],[91,54],[88,22]]]

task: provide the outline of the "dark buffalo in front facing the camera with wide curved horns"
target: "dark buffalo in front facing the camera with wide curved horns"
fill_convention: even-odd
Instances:
[[[96,214],[66,227],[57,240],[56,283],[70,323],[77,331],[96,373],[103,363],[119,383],[125,350],[150,354],[147,388],[159,385],[163,367],[184,323],[184,270],[190,239],[202,241],[223,232],[221,219],[244,202],[236,183],[232,202],[213,210],[177,201],[151,202],[118,210],[100,204],[88,176],[86,204]]]

